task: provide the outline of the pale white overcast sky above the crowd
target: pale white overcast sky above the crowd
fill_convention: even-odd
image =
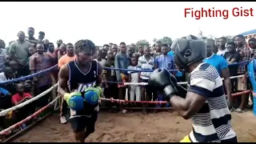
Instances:
[[[187,34],[241,34],[255,29],[256,2],[0,2],[0,39],[6,43],[16,40],[18,31],[35,29],[34,37],[44,31],[50,42],[77,42],[90,39],[95,45],[138,42],[164,36],[180,38]],[[241,9],[242,6],[242,9]],[[214,8],[213,8],[214,7]],[[234,17],[232,10],[253,8],[250,17]],[[196,20],[185,9],[229,10],[229,18],[200,18]]]

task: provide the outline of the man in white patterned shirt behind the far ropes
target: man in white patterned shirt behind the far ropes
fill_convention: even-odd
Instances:
[[[150,47],[144,47],[144,55],[138,58],[138,68],[142,70],[153,70],[154,69],[154,58],[150,56]],[[148,82],[151,72],[139,72],[140,82]],[[142,86],[142,101],[151,101],[153,87]],[[146,93],[146,96],[145,96]],[[147,114],[147,104],[143,103],[142,113]]]

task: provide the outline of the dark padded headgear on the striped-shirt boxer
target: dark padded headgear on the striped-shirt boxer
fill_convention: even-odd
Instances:
[[[196,37],[178,38],[171,48],[174,50],[174,62],[181,69],[187,69],[194,62],[206,58],[206,44]]]

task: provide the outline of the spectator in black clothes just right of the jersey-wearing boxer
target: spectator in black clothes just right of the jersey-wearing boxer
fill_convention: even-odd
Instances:
[[[114,51],[109,50],[107,52],[107,60],[103,65],[105,67],[114,68]],[[117,77],[114,70],[102,70],[103,74],[103,81],[105,85],[104,95],[106,98],[114,98],[118,99],[118,85],[116,83],[109,83],[109,82],[117,82]],[[106,106],[110,108],[109,112],[115,112],[114,106],[116,106],[115,102],[106,102]]]

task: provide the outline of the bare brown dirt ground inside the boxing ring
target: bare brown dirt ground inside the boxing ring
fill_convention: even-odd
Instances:
[[[256,120],[251,111],[232,113],[238,142],[256,142]],[[101,112],[94,134],[87,142],[179,142],[191,130],[190,120],[176,112],[142,115]],[[46,118],[14,142],[74,142],[70,124],[62,125],[58,114]]]

